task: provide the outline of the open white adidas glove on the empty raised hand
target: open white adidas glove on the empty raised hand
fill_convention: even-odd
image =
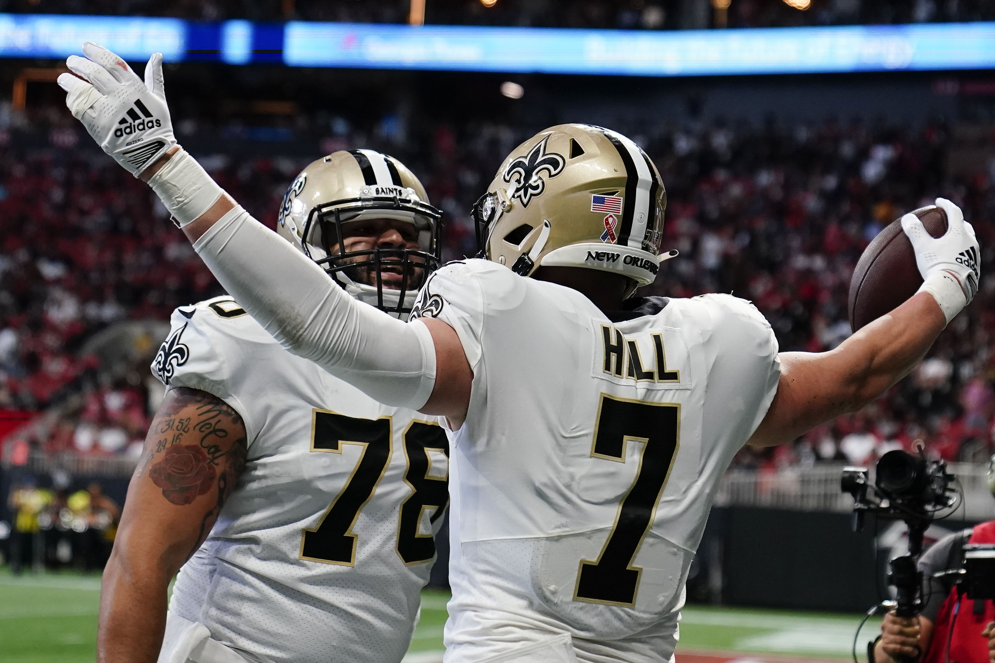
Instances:
[[[145,82],[127,63],[92,42],[86,58],[70,56],[66,66],[85,81],[63,74],[66,105],[104,152],[135,177],[176,144],[162,84],[162,54],[153,53]],[[89,82],[89,83],[88,83]]]

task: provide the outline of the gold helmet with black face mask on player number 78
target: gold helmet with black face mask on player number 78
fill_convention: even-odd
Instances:
[[[418,249],[345,250],[347,227],[371,219],[411,223]],[[441,228],[442,211],[429,205],[422,183],[404,164],[374,150],[342,150],[300,171],[284,195],[277,233],[356,299],[404,317],[439,268]],[[357,281],[364,269],[375,274],[375,285]],[[384,285],[383,269],[400,270],[399,289]]]

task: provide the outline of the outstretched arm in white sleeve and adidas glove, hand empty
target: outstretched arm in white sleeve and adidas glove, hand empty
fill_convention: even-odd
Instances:
[[[148,182],[250,315],[285,348],[374,400],[462,421],[472,373],[449,325],[407,324],[354,300],[225,194],[176,144],[159,54],[142,82],[106,49],[87,43],[83,51],[86,58],[67,61],[77,76],[59,77],[73,115],[107,154]],[[121,119],[138,111],[147,111],[152,125],[141,119],[145,128],[117,135]]]

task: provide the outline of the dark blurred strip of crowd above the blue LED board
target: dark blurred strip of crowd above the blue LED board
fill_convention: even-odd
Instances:
[[[995,18],[986,0],[431,0],[429,24],[615,28],[759,28],[801,25],[857,25],[983,21]],[[218,21],[341,21],[407,23],[409,0],[0,0],[0,12],[175,16]]]

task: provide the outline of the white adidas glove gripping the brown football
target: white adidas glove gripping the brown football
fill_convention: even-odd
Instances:
[[[964,221],[959,207],[945,198],[937,198],[936,207],[946,213],[947,230],[942,237],[929,235],[913,214],[901,218],[901,230],[912,244],[915,265],[922,274],[919,291],[935,297],[949,322],[977,294],[981,249],[974,228]]]

